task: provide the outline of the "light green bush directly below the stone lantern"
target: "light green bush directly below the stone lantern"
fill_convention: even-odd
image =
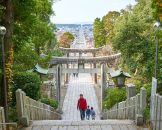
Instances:
[[[126,100],[125,88],[109,88],[103,102],[103,108],[110,109],[116,103]]]

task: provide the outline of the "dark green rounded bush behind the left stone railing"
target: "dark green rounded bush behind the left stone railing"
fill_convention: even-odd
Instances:
[[[22,89],[32,99],[40,99],[40,77],[36,73],[19,72],[13,76],[13,102],[15,103],[15,91]]]

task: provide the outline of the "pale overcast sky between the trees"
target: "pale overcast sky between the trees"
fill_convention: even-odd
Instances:
[[[134,5],[135,0],[60,0],[53,5],[54,23],[93,22],[108,11],[120,11],[127,5]]]

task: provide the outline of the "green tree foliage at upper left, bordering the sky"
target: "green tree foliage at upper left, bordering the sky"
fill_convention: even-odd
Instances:
[[[55,38],[55,26],[50,22],[50,16],[53,15],[52,0],[15,0],[14,6],[15,51],[28,41],[33,43],[33,49],[39,55],[41,48],[54,42],[52,39]]]

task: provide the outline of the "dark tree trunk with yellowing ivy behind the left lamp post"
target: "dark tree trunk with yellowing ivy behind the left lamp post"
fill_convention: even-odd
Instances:
[[[8,100],[10,100],[11,95],[8,91],[11,89],[11,81],[12,81],[12,65],[13,65],[13,1],[11,0],[2,0],[0,5],[0,24],[1,26],[6,27],[6,34],[4,37],[4,50],[5,50],[5,72],[6,72],[6,87],[7,87],[7,96]],[[2,58],[1,58],[2,59]],[[2,80],[3,78],[1,78]],[[3,80],[1,81],[3,84]],[[3,85],[1,85],[3,86]],[[1,88],[1,103],[4,100],[3,87]]]

